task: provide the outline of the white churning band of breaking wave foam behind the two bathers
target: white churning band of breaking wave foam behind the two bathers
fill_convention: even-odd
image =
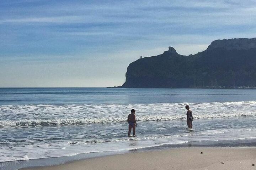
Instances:
[[[125,122],[131,108],[138,121],[169,121],[186,118],[189,104],[195,119],[255,117],[256,101],[213,103],[98,104],[98,105],[5,105],[0,108],[5,126],[83,125]]]

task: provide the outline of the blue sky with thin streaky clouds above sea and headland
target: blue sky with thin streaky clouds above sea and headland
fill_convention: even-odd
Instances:
[[[122,85],[140,56],[253,38],[255,21],[253,0],[0,0],[0,87]]]

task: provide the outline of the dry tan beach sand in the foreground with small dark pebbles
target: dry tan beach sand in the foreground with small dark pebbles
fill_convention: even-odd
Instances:
[[[202,153],[201,153],[202,152]],[[253,166],[255,164],[255,166]],[[256,170],[256,148],[172,148],[23,170]]]

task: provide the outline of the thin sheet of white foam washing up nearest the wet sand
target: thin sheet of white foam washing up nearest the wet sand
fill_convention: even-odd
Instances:
[[[250,131],[245,131],[244,135],[250,135]],[[182,144],[187,142],[201,142],[201,141],[220,141],[220,140],[244,140],[244,139],[255,139],[253,137],[236,137],[238,130],[233,130],[233,132],[218,132],[212,131],[208,135],[222,134],[215,136],[215,139],[209,136],[201,135],[207,134],[187,134],[178,136],[159,136],[159,137],[134,137],[134,138],[123,138],[123,139],[113,139],[112,142],[97,141],[97,143],[79,143],[79,145],[67,145],[67,143],[59,143],[58,146],[48,147],[45,144],[41,144],[39,147],[34,146],[23,146],[16,147],[13,152],[7,152],[5,148],[1,148],[1,152],[4,157],[0,157],[0,162],[8,162],[14,160],[28,160],[39,159],[39,158],[53,158],[53,157],[63,157],[77,155],[80,153],[96,153],[96,152],[110,152],[110,151],[124,151],[130,149],[141,149],[156,146],[164,146],[170,144]],[[228,134],[228,136],[227,136]],[[190,136],[193,136],[191,138]],[[234,137],[231,137],[234,136]],[[231,138],[230,138],[231,137]],[[171,140],[170,140],[171,138]],[[16,156],[13,156],[16,155]]]

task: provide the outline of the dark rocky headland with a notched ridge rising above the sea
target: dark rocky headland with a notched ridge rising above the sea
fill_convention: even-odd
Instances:
[[[256,86],[256,38],[213,41],[195,55],[163,54],[129,64],[122,87]]]

